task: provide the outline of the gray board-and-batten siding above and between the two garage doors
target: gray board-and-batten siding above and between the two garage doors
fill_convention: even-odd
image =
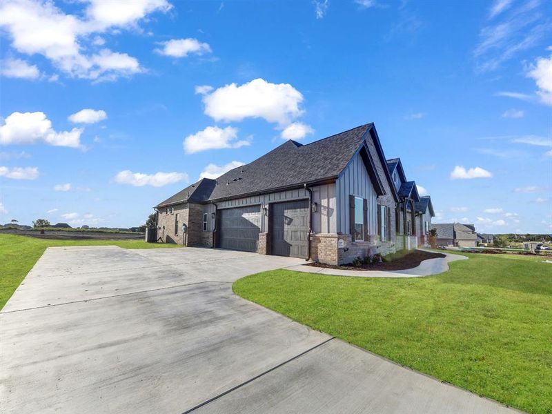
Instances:
[[[311,190],[313,192],[313,202],[318,204],[317,212],[313,213],[313,233],[337,233],[335,184],[315,186],[311,187]],[[267,193],[219,201],[217,203],[217,208],[222,210],[224,208],[253,206],[258,204],[259,209],[262,209],[271,203],[293,201],[297,199],[308,199],[308,191],[304,188],[298,188],[295,190],[279,191],[277,193]],[[207,228],[209,231],[213,231],[215,223],[212,213],[215,213],[215,206],[213,206],[213,204],[206,204],[204,206],[204,212],[207,213]],[[265,233],[267,230],[268,217],[263,215],[261,232]]]

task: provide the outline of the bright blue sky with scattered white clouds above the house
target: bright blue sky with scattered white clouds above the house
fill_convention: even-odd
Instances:
[[[0,223],[139,226],[373,122],[434,222],[552,230],[552,2],[0,1]]]

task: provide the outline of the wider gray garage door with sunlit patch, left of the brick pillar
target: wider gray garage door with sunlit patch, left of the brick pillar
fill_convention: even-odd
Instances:
[[[219,213],[219,246],[256,252],[261,230],[261,206],[225,208]]]

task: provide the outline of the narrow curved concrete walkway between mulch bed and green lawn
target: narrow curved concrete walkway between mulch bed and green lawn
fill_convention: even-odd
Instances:
[[[423,251],[429,251],[420,249]],[[420,263],[420,266],[405,270],[341,270],[331,268],[320,268],[299,264],[298,266],[290,266],[286,269],[296,270],[297,272],[318,273],[319,275],[332,276],[355,276],[355,277],[424,277],[431,275],[439,275],[440,273],[449,270],[449,262],[456,260],[466,260],[468,257],[462,255],[451,255],[451,253],[443,253],[446,257],[437,257],[435,259],[427,259]]]

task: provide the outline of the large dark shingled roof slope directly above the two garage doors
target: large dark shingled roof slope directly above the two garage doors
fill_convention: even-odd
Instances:
[[[306,145],[286,141],[250,164],[218,177],[210,199],[261,193],[335,178],[351,161],[371,126],[373,124],[359,126]]]

